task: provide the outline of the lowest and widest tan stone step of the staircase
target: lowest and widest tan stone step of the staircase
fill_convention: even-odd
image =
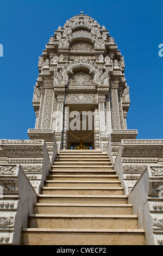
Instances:
[[[24,228],[22,245],[145,245],[145,230]]]

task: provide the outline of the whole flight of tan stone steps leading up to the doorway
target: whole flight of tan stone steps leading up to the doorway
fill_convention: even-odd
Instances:
[[[22,245],[145,245],[145,230],[100,150],[60,151],[37,202]]]

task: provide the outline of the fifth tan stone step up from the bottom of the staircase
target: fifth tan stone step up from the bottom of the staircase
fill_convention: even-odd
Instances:
[[[42,194],[113,195],[123,194],[122,187],[42,187]]]

